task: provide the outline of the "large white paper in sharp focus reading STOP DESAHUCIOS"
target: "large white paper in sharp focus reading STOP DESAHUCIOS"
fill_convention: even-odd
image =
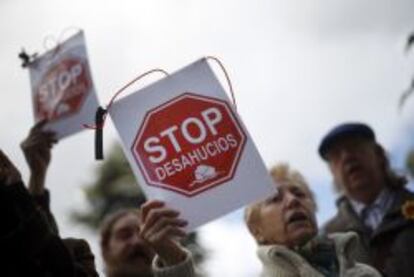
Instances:
[[[275,192],[205,59],[115,102],[109,113],[143,191],[179,210],[187,230]]]

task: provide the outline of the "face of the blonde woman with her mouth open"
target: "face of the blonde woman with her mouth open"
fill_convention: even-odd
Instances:
[[[263,244],[302,245],[317,232],[315,204],[300,185],[283,182],[278,189],[278,194],[260,204],[256,238]]]

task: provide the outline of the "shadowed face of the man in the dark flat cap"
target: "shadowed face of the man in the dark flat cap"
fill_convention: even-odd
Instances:
[[[339,139],[326,155],[335,182],[351,198],[370,204],[384,187],[384,157],[362,137]]]

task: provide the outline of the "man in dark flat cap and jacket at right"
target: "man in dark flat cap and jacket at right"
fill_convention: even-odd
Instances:
[[[357,232],[360,262],[386,276],[414,276],[414,194],[390,168],[374,131],[362,123],[333,128],[319,146],[334,178],[338,212],[325,233]]]

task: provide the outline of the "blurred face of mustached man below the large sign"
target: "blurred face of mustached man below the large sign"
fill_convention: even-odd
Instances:
[[[109,272],[124,276],[152,276],[154,252],[139,235],[138,215],[128,213],[112,227],[105,261]]]

